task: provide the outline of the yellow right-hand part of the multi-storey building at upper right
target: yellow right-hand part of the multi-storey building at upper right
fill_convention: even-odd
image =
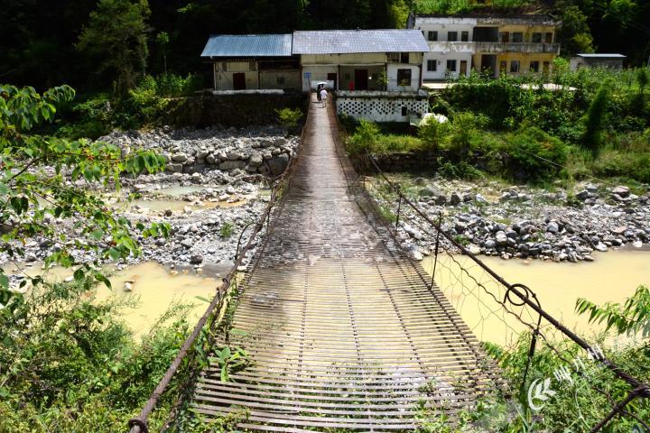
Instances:
[[[559,23],[547,15],[477,18],[472,65],[497,78],[502,74],[549,73],[560,53]]]

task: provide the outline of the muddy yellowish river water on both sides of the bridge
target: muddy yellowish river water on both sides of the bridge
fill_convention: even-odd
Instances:
[[[519,282],[530,287],[546,311],[558,318],[565,326],[577,331],[580,336],[590,338],[601,327],[590,325],[587,319],[575,311],[578,298],[590,299],[599,304],[612,301],[623,302],[631,296],[639,284],[650,284],[650,252],[615,251],[599,253],[593,263],[552,263],[538,260],[502,260],[497,257],[480,257],[480,260],[511,283]],[[457,263],[458,262],[458,263]],[[469,273],[460,270],[459,263]],[[422,263],[427,272],[432,271],[432,258]],[[29,274],[42,272],[41,263],[26,268]],[[133,296],[139,300],[135,309],[126,309],[124,318],[136,336],[144,335],[156,319],[174,301],[195,304],[190,311],[193,323],[207,307],[203,297],[211,299],[220,285],[219,274],[228,271],[209,269],[210,276],[197,274],[192,270],[170,271],[158,263],[141,263],[115,272],[110,280],[112,290],[103,285],[98,289],[98,298],[111,296]],[[7,267],[6,271],[14,271]],[[63,280],[71,275],[70,270],[54,268],[48,272],[51,279]],[[129,281],[132,291],[125,292]],[[511,345],[519,334],[527,329],[512,315],[504,312],[489,293],[503,299],[505,290],[495,280],[471,262],[467,256],[442,257],[437,265],[436,281],[450,299],[453,306],[474,331],[479,340],[500,345]],[[485,290],[478,287],[480,282]],[[489,293],[487,293],[487,290]],[[534,323],[536,316],[514,309],[528,322]],[[550,335],[550,334],[549,334]]]

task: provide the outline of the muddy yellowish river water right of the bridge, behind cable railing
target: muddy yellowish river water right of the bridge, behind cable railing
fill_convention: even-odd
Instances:
[[[650,252],[612,251],[598,253],[594,258],[593,263],[502,260],[483,256],[480,260],[511,284],[522,283],[534,290],[543,309],[580,336],[590,339],[602,327],[590,325],[587,318],[575,313],[576,299],[590,299],[598,304],[623,303],[640,284],[650,284]],[[469,257],[454,256],[453,259],[441,259],[436,281],[479,340],[511,345],[523,330],[530,329],[504,313],[490,296],[491,293],[502,300],[503,286]],[[469,272],[462,272],[455,262]],[[431,257],[425,258],[423,265],[427,272],[432,272]],[[486,289],[481,289],[477,281]],[[527,322],[536,323],[537,316],[530,314],[529,309],[513,310]],[[552,336],[550,328],[547,332]]]

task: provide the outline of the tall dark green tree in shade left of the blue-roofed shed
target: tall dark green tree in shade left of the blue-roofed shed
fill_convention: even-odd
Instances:
[[[144,75],[150,14],[147,0],[99,0],[79,35],[77,49],[97,60],[98,71],[112,71],[120,94]]]

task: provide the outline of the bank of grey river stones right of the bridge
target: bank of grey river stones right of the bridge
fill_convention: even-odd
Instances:
[[[404,183],[403,190],[433,221],[442,215],[442,227],[476,254],[590,262],[594,251],[650,242],[648,186],[635,193],[626,186],[580,183],[549,192],[497,182],[394,180]],[[395,209],[389,198],[375,196],[385,208]],[[402,244],[422,258],[432,251],[433,236],[410,207],[403,206],[401,213]]]

